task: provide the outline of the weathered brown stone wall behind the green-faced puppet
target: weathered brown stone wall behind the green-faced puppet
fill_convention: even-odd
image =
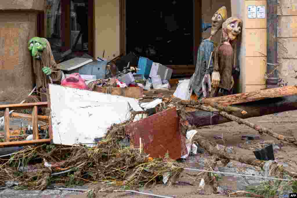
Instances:
[[[35,82],[28,41],[37,33],[37,15],[45,0],[6,0],[0,3],[0,102],[17,103]]]

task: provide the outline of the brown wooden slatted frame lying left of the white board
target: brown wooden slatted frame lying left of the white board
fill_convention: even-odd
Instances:
[[[9,104],[0,105],[0,110],[4,110],[4,136],[5,142],[0,142],[0,147],[12,147],[12,146],[24,146],[32,144],[44,144],[50,143],[53,135],[51,131],[51,121],[49,119],[49,139],[39,139],[39,131],[37,121],[39,119],[37,115],[38,107],[48,107],[48,102],[36,102],[36,103],[25,103],[25,104]],[[33,125],[33,140],[28,141],[14,141],[10,142],[10,130],[9,130],[9,111],[19,109],[32,108],[32,125]]]

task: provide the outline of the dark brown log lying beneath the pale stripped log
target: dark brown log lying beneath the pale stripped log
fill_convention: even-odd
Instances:
[[[238,118],[246,119],[284,111],[297,110],[297,96],[284,96],[279,98],[264,99],[232,106],[247,111],[248,113],[245,115],[242,115],[240,112],[233,114]],[[230,122],[228,118],[202,110],[188,112],[183,116],[183,119],[184,121],[187,121],[189,125],[196,127]]]

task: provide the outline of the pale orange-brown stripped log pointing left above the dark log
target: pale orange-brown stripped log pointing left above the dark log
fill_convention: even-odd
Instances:
[[[285,86],[272,89],[264,89],[241,94],[207,98],[205,100],[217,102],[219,104],[230,105],[290,95],[297,95],[297,86]]]

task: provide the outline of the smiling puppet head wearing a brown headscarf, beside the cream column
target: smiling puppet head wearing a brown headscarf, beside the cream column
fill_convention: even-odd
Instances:
[[[222,41],[236,40],[241,33],[242,20],[236,17],[228,18],[222,26]]]

